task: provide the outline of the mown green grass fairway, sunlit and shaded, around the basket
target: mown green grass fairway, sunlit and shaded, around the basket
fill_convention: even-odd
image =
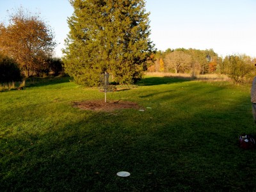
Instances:
[[[150,77],[107,93],[145,111],[86,111],[104,100],[68,78],[0,93],[0,191],[255,191],[250,87]],[[130,172],[118,177],[117,172]]]

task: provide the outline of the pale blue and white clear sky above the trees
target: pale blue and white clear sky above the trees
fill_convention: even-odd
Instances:
[[[55,33],[61,49],[69,31],[67,18],[73,13],[68,0],[0,0],[0,22],[8,23],[15,8],[40,12]],[[219,56],[246,54],[256,58],[256,0],[147,0],[150,40],[157,50],[213,49]]]

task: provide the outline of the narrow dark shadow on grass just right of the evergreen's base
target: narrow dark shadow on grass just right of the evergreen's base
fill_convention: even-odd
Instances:
[[[137,83],[138,86],[152,86],[159,84],[171,84],[171,83],[182,83],[185,81],[191,81],[191,78],[175,78],[175,77],[148,77],[141,79]]]

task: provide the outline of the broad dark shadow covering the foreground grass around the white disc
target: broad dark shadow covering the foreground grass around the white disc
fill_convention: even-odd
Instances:
[[[255,170],[255,153],[241,152],[236,131],[228,129],[241,116],[229,111],[237,110],[223,111],[231,125],[218,129],[223,120],[214,113],[198,111],[180,121],[158,118],[161,110],[137,112],[132,121],[129,113],[88,113],[44,134],[7,134],[0,191],[253,191],[256,177],[244,169]],[[142,116],[150,122],[141,122]],[[131,177],[117,177],[122,170]]]

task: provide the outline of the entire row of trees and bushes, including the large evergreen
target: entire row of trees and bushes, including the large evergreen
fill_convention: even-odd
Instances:
[[[251,82],[256,75],[256,59],[245,54],[221,58],[212,49],[156,51],[148,38],[150,26],[144,1],[129,2],[130,6],[107,2],[99,12],[93,11],[95,15],[92,10],[100,7],[99,2],[83,1],[82,7],[77,2],[72,3],[75,16],[68,19],[70,33],[63,61],[53,58],[54,33],[38,14],[31,15],[21,7],[10,15],[8,24],[0,23],[0,83],[29,76],[58,76],[63,66],[76,83],[85,86],[99,85],[99,74],[104,72],[112,74],[118,84],[136,83],[146,70],[191,77],[225,74],[239,84]]]

